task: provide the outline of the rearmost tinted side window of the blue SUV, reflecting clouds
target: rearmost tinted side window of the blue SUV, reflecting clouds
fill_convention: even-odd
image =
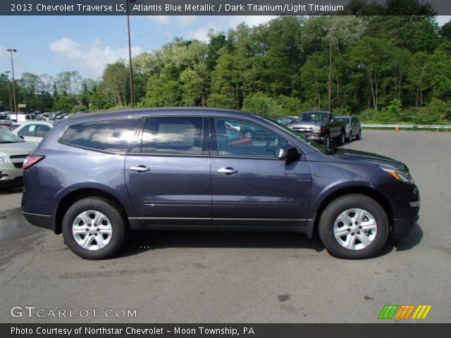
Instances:
[[[72,146],[125,153],[139,123],[139,118],[80,123],[68,127],[59,140]]]

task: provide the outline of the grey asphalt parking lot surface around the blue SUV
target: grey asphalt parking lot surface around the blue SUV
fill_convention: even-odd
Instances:
[[[451,133],[365,131],[345,147],[403,161],[421,192],[414,234],[364,261],[302,234],[249,232],[133,234],[116,258],[84,261],[7,207],[19,193],[0,195],[0,322],[373,323],[385,304],[431,304],[425,321],[449,323]],[[137,317],[13,318],[12,306]]]

